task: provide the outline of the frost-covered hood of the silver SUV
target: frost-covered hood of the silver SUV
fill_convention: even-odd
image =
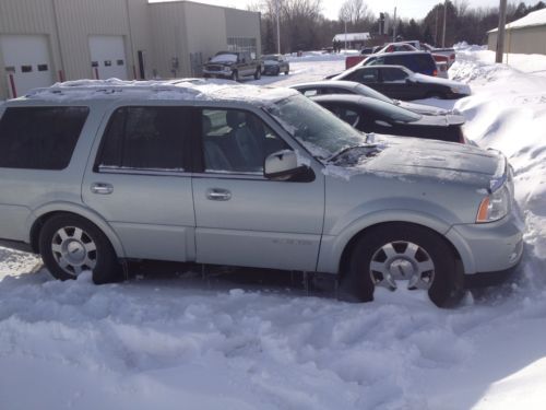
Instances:
[[[472,145],[407,137],[368,136],[377,144],[373,155],[361,156],[358,173],[417,176],[442,181],[464,183],[488,189],[491,180],[507,168],[498,151]]]

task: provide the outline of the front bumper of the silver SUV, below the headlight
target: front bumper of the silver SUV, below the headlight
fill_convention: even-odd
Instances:
[[[523,234],[513,214],[491,223],[453,225],[446,237],[461,256],[468,284],[502,281],[523,255]]]

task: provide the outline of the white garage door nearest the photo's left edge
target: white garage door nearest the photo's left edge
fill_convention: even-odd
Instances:
[[[47,36],[1,35],[0,50],[11,97],[54,83]]]

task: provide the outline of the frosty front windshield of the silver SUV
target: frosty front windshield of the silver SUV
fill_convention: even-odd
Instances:
[[[278,101],[268,112],[317,157],[325,160],[348,147],[366,144],[364,133],[302,95]]]

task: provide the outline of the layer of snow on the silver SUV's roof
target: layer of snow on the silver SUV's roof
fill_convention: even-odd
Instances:
[[[239,101],[270,103],[297,91],[282,87],[245,85],[229,80],[178,79],[166,81],[78,80],[57,83],[29,91],[21,99],[82,101],[82,99],[180,99],[180,101]]]

